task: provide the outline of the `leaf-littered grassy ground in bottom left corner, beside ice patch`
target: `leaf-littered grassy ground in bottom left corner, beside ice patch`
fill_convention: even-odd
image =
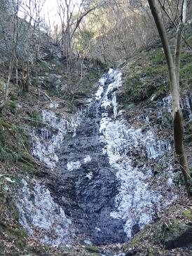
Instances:
[[[19,177],[16,173],[13,175],[4,173],[4,175],[0,177],[0,255],[52,255],[54,251],[52,248],[32,241],[32,238],[29,238],[27,232],[20,226],[15,198],[12,196]],[[17,183],[6,180],[4,177],[7,175]],[[60,254],[55,253],[55,255]]]

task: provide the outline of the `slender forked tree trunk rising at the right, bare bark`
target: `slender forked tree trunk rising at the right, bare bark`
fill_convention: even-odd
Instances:
[[[183,27],[183,21],[185,21],[185,11],[186,11],[186,0],[183,1],[182,5],[182,15],[181,22],[177,29],[177,40],[176,40],[176,50],[175,50],[175,62],[172,58],[172,53],[170,50],[170,45],[167,39],[167,34],[165,32],[165,27],[163,21],[158,14],[156,7],[156,0],[148,0],[149,6],[151,8],[151,13],[156,22],[156,27],[160,35],[161,42],[163,44],[163,49],[165,53],[165,58],[167,60],[167,66],[169,70],[169,79],[170,79],[170,92],[172,95],[172,114],[174,120],[174,149],[176,154],[179,156],[179,164],[181,166],[181,171],[184,175],[184,182],[188,192],[188,196],[191,196],[191,175],[188,169],[188,163],[186,159],[186,154],[184,151],[184,124],[182,120],[181,109],[179,105],[179,57],[181,50],[181,33]],[[184,19],[183,19],[184,18]]]

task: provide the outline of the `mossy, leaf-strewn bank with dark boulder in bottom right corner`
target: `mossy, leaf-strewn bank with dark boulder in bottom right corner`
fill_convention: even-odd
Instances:
[[[184,210],[186,217],[191,217],[190,210]],[[190,219],[188,219],[190,220]],[[132,248],[142,248],[141,254],[147,255],[164,255],[165,248],[177,248],[184,245],[191,245],[191,226],[184,223],[178,218],[172,220],[164,219],[154,224],[144,227],[135,238],[127,245],[124,245],[125,252],[129,252]],[[146,246],[145,246],[146,245]],[[139,252],[139,249],[138,249]],[[165,254],[166,255],[166,254]]]

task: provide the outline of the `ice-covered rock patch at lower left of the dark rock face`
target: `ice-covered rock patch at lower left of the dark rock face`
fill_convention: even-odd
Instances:
[[[36,180],[21,180],[17,208],[20,223],[27,232],[42,243],[60,245],[68,243],[73,235],[71,220],[53,201],[50,191]]]

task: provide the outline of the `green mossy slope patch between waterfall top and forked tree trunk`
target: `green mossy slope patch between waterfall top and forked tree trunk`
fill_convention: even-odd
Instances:
[[[149,100],[154,93],[156,97],[163,97],[169,90],[167,66],[161,48],[132,58],[123,73],[125,95],[130,102]]]

